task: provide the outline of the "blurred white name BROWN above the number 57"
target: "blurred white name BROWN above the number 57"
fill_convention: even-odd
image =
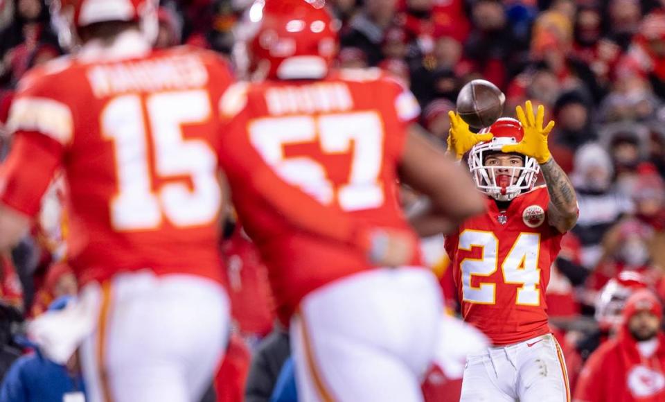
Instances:
[[[342,82],[270,88],[265,103],[272,115],[344,112],[353,108],[351,91]]]

